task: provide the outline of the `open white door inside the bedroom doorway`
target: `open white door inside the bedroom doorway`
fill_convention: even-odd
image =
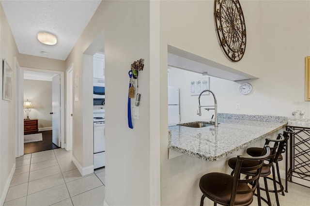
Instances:
[[[52,79],[52,142],[58,147],[61,147],[60,106],[60,75],[57,74]]]

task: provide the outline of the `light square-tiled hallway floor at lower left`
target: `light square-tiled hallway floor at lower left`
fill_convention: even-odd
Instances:
[[[82,177],[65,149],[16,158],[3,206],[103,206],[105,168]]]

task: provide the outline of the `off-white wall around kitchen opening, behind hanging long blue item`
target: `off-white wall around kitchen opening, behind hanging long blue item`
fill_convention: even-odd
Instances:
[[[87,55],[83,56],[83,53],[103,30],[106,78],[106,201],[109,206],[149,205],[148,1],[103,1],[66,59],[67,67],[74,63],[74,76],[77,73],[79,75],[79,100],[74,102],[73,111],[73,155],[83,168],[93,164],[90,158],[93,147],[82,144],[92,141],[92,131],[85,122],[92,122],[89,115],[92,116],[93,113],[89,106],[93,99],[87,94],[92,94],[93,76],[89,75],[92,74],[91,71],[87,71],[84,61],[89,58]],[[133,120],[134,129],[129,129],[128,71],[130,65],[140,58],[145,59],[144,70],[139,73],[140,117]]]

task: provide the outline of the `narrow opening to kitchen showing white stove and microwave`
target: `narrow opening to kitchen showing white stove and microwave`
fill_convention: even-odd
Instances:
[[[92,95],[93,109],[89,110],[93,116],[93,144],[90,150],[93,156],[93,167],[95,173],[105,177],[105,69],[104,69],[104,31],[102,31],[83,53],[83,65],[91,67],[92,72],[87,76],[88,85],[95,95]],[[85,78],[85,76],[83,77]],[[95,89],[94,89],[95,88]],[[93,92],[92,92],[93,93]],[[105,182],[103,182],[105,184]]]

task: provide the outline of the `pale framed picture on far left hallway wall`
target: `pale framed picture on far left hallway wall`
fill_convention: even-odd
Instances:
[[[12,100],[12,86],[13,86],[13,70],[3,59],[3,75],[2,75],[2,99],[6,101]]]

